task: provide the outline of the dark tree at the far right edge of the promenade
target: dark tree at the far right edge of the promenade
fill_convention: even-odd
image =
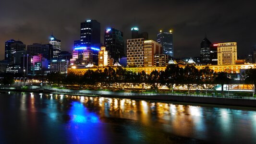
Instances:
[[[253,96],[256,93],[256,69],[247,69],[245,71],[245,83],[246,84],[253,84]]]

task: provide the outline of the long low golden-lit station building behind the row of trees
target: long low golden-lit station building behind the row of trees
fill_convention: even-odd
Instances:
[[[182,62],[178,62],[177,63],[180,67],[185,67],[186,65],[191,65],[191,64],[184,64]],[[198,70],[200,69],[204,69],[205,67],[209,67],[210,69],[214,70],[215,72],[227,72],[227,73],[241,73],[244,72],[243,70],[246,69],[250,69],[250,68],[256,68],[256,64],[236,64],[236,65],[195,65],[195,68],[197,68]],[[68,68],[68,73],[69,72],[73,72],[75,74],[84,74],[87,70],[102,70],[104,71],[105,68],[109,68],[110,66],[106,66],[106,67],[88,67],[88,68],[78,68],[78,67],[69,67]],[[117,69],[116,66],[112,67],[114,70]],[[132,71],[132,72],[142,72],[145,71],[146,73],[150,73],[154,70],[159,71],[164,71],[166,69],[166,67],[125,67],[123,69],[126,69],[128,71]],[[242,71],[241,71],[242,70]]]

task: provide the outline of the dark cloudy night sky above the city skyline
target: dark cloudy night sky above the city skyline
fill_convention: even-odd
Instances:
[[[72,51],[80,39],[80,23],[95,19],[104,29],[121,30],[131,38],[135,24],[156,40],[160,29],[173,29],[174,57],[200,55],[207,34],[212,43],[237,42],[243,57],[256,45],[255,0],[0,0],[0,60],[4,42],[21,40],[26,45],[61,39],[61,50]]]

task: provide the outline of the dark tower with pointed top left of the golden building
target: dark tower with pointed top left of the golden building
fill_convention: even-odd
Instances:
[[[205,37],[201,42],[200,63],[210,63],[210,46],[211,42],[207,39],[207,37]]]

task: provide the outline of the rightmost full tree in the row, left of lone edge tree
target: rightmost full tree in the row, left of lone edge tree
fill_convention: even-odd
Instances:
[[[200,74],[200,85],[206,90],[210,88],[213,88],[213,82],[214,82],[214,71],[211,70],[208,66],[204,69],[199,70]]]

